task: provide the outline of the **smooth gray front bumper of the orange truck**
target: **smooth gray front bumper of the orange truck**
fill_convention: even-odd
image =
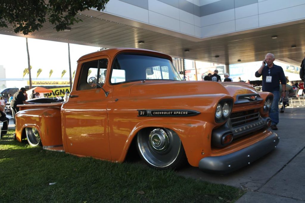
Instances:
[[[199,169],[207,173],[230,173],[271,152],[278,142],[278,135],[272,133],[267,138],[237,152],[224,156],[205,157],[199,161]]]

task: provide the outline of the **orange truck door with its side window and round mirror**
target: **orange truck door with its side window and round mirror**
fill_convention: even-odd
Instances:
[[[90,77],[104,83],[108,59],[81,62],[76,90],[62,107],[63,144],[66,152],[82,156],[109,159],[107,102],[109,97],[98,87],[91,87]],[[76,75],[77,77],[77,75]]]

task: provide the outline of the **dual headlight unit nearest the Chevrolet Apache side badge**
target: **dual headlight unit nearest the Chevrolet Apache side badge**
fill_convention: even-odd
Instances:
[[[216,123],[222,123],[226,121],[230,117],[232,107],[233,107],[233,99],[220,100],[217,103],[214,114]],[[224,108],[226,110],[226,113],[224,113]],[[219,110],[221,110],[221,113],[219,113]]]

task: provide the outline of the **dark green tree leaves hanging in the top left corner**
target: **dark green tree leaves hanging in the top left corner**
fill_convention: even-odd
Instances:
[[[2,0],[0,1],[0,27],[14,28],[15,33],[27,35],[43,27],[46,18],[56,31],[79,23],[79,11],[95,8],[104,10],[109,0]]]

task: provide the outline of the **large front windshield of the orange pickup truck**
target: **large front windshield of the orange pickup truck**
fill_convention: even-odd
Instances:
[[[139,80],[181,80],[172,62],[150,55],[120,54],[113,62],[110,83]]]

